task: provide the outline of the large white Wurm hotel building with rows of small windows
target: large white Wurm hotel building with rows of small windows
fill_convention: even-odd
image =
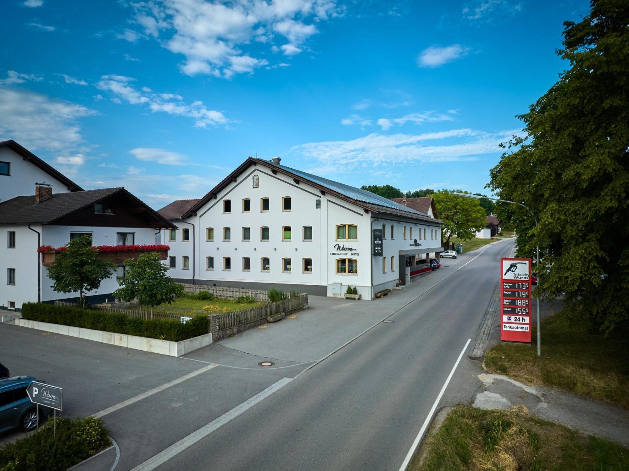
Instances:
[[[249,157],[200,200],[159,210],[178,227],[161,232],[173,278],[371,299],[443,250],[440,220],[279,162]]]

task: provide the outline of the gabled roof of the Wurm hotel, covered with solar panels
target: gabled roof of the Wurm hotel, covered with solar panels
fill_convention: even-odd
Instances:
[[[304,181],[311,186],[318,188],[318,190],[320,191],[328,192],[331,195],[337,196],[337,198],[349,201],[350,203],[362,207],[365,211],[371,211],[377,214],[389,214],[399,217],[408,217],[415,220],[422,220],[425,222],[432,222],[437,224],[441,223],[440,220],[431,218],[425,213],[418,212],[413,208],[406,207],[404,205],[396,203],[395,201],[389,200],[389,198],[384,198],[383,196],[371,193],[370,191],[361,190],[360,188],[355,188],[354,186],[350,186],[344,183],[338,183],[338,181],[333,181],[327,178],[303,172],[301,170],[296,170],[291,167],[276,164],[272,161],[257,159],[254,157],[248,157],[246,161],[244,161],[237,169],[226,176],[226,178],[223,179],[223,181],[216,185],[212,190],[210,190],[208,194],[203,196],[203,198],[201,198],[198,203],[196,203],[196,205],[191,207],[190,210],[188,210],[182,217],[186,217],[189,213],[195,212],[199,208],[203,207],[203,205],[206,204],[209,200],[216,198],[221,190],[226,188],[228,184],[235,181],[237,176],[242,174],[248,167],[258,164],[269,167],[272,171],[280,172],[287,176],[290,176],[296,181]]]

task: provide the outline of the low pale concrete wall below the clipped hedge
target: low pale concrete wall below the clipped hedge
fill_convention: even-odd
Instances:
[[[182,356],[196,349],[212,343],[212,334],[204,334],[191,339],[173,342],[169,340],[151,339],[128,334],[116,334],[114,332],[95,331],[83,327],[62,326],[50,322],[28,321],[16,319],[16,325],[38,329],[40,331],[54,332],[55,334],[68,335],[94,342],[108,343],[120,347],[133,348],[135,350],[160,353],[161,355]]]

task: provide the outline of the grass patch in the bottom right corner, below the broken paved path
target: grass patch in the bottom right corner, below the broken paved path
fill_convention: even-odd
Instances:
[[[420,465],[421,461],[421,465]],[[524,406],[456,406],[426,438],[412,471],[629,469],[629,450],[528,415]]]

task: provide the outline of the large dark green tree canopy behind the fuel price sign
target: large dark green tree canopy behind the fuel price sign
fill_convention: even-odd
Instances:
[[[518,229],[518,255],[548,249],[537,290],[581,305],[610,331],[629,316],[629,3],[599,0],[564,23],[570,68],[530,106],[491,170],[490,187]],[[508,208],[507,208],[508,207]]]

